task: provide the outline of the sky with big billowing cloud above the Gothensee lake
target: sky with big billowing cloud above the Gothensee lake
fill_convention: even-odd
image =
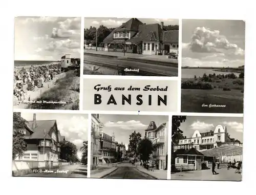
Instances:
[[[243,66],[244,49],[242,20],[182,20],[182,66]]]

